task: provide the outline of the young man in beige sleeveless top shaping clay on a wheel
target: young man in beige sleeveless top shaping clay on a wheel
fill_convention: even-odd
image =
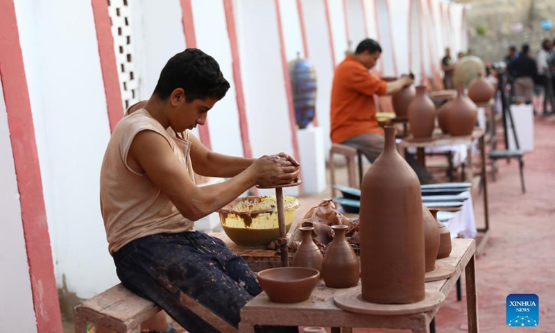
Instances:
[[[101,210],[119,279],[191,333],[237,328],[239,311],[261,292],[246,262],[223,241],[196,232],[194,221],[254,185],[288,183],[299,171],[284,153],[257,160],[221,155],[191,134],[229,87],[216,60],[203,51],[176,54],[151,98],[130,107],[117,124],[101,169]],[[230,180],[198,187],[194,172]],[[191,311],[196,305],[219,320],[207,323]],[[167,329],[163,314],[148,325],[143,328]]]

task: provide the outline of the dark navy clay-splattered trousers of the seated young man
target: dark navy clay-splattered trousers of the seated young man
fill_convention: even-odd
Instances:
[[[114,253],[119,280],[160,305],[191,333],[238,327],[239,311],[262,289],[244,259],[203,232],[155,234]],[[182,294],[185,294],[183,297]],[[183,300],[202,307],[188,307]],[[200,312],[195,309],[200,308]],[[192,311],[191,311],[192,309]],[[214,327],[198,314],[216,315]],[[221,320],[220,320],[221,319]],[[212,322],[212,321],[211,321]],[[257,327],[257,332],[298,332],[297,327]]]

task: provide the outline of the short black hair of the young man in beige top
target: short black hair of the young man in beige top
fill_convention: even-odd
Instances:
[[[199,49],[186,49],[168,60],[154,94],[164,100],[177,88],[185,90],[185,101],[191,103],[207,97],[223,99],[230,84],[214,58]]]

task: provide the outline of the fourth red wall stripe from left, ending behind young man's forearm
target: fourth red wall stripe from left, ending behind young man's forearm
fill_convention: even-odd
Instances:
[[[252,158],[253,151],[250,149],[250,139],[248,135],[243,80],[241,80],[241,60],[239,60],[239,44],[237,44],[237,32],[235,31],[235,18],[233,16],[232,0],[223,0],[223,7],[225,8],[225,22],[228,24],[228,35],[230,38],[231,58],[233,62],[233,81],[235,83],[235,96],[237,96],[237,109],[239,110],[239,128],[241,129],[243,154],[247,158]]]

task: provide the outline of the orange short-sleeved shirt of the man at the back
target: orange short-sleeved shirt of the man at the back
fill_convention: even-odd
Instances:
[[[330,105],[331,137],[341,143],[363,133],[384,130],[376,120],[374,94],[386,94],[386,82],[348,55],[335,69]]]

